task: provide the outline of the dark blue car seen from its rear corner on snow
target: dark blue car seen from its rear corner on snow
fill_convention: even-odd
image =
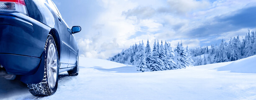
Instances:
[[[51,0],[0,0],[0,77],[18,79],[36,96],[54,94],[58,74],[76,76],[74,33]]]

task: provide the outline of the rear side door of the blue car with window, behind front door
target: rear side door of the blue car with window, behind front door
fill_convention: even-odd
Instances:
[[[61,18],[61,15],[59,13],[59,10],[57,9],[56,5],[54,2],[51,0],[47,0],[49,3],[49,6],[54,10],[56,13],[56,16],[58,17],[58,24],[59,24],[59,34],[60,34],[60,42],[61,42],[61,58],[60,58],[60,68],[65,68],[68,67],[68,62],[69,62],[69,53],[70,53],[70,47],[69,47],[69,27],[65,23],[65,21]]]

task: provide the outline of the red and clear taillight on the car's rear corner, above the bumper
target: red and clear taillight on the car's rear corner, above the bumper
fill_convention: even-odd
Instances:
[[[24,0],[0,0],[0,12],[18,12],[28,15]]]

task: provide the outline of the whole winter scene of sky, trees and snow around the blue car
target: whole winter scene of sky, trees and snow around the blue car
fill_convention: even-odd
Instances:
[[[52,1],[79,75],[48,97],[0,78],[0,100],[256,100],[256,0]]]

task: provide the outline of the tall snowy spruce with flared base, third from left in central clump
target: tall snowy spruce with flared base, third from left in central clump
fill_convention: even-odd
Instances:
[[[156,40],[154,42],[153,54],[152,54],[152,65],[149,67],[150,71],[161,70],[161,67],[164,66],[164,63],[159,59],[159,51],[157,50]]]

